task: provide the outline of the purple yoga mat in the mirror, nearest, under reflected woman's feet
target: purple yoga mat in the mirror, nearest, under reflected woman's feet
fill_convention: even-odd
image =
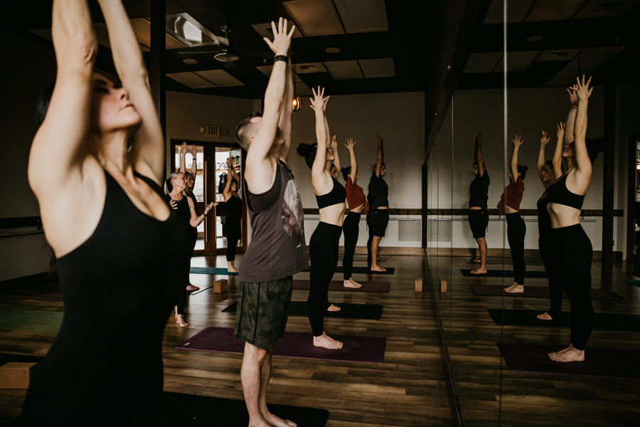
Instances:
[[[585,362],[562,363],[547,355],[562,349],[562,345],[497,344],[511,371],[640,379],[638,350],[587,347]]]

